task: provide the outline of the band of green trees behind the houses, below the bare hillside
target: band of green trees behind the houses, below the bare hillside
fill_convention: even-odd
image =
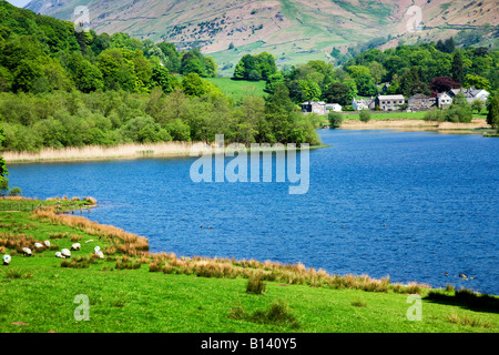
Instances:
[[[377,95],[384,84],[387,94],[406,98],[470,87],[492,92],[499,84],[499,51],[485,47],[457,48],[452,38],[437,43],[401,44],[385,51],[370,48],[340,67],[322,60],[284,65],[271,75],[259,73],[256,58],[243,57],[234,70],[234,79],[261,78],[267,81],[267,92],[284,83],[293,102],[298,104],[322,100],[348,106],[354,98]]]

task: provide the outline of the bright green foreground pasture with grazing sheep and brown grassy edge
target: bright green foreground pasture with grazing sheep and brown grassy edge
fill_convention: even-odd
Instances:
[[[450,288],[432,293],[302,264],[150,254],[139,236],[90,222],[86,212],[55,214],[57,201],[43,204],[35,213],[0,212],[0,254],[12,255],[0,266],[2,333],[498,332],[496,297],[477,308]],[[21,255],[22,245],[44,240],[50,251]],[[71,260],[54,257],[74,242],[82,248]],[[104,260],[92,256],[95,245]],[[255,277],[264,281],[263,294],[246,292]],[[414,293],[422,296],[421,321],[407,318]],[[78,321],[85,314],[77,310],[79,295],[89,300],[88,322]]]

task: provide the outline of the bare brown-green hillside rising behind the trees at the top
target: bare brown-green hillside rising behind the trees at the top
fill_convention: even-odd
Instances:
[[[421,8],[424,29],[410,33],[407,23],[414,16],[406,13],[414,4]],[[278,64],[293,64],[330,60],[334,47],[346,52],[381,37],[390,36],[384,43],[390,47],[472,29],[480,30],[482,44],[490,43],[499,23],[495,1],[466,0],[317,0],[313,6],[303,0],[33,0],[27,8],[71,20],[78,6],[89,7],[90,27],[98,33],[126,32],[179,49],[200,47],[224,75],[232,74],[242,55],[257,51],[272,52]],[[234,48],[227,50],[231,43]]]

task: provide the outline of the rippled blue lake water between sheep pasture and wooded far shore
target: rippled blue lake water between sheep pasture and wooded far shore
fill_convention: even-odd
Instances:
[[[84,216],[146,236],[152,252],[302,262],[499,294],[498,139],[319,134],[332,146],[310,151],[302,195],[287,182],[194,183],[195,159],[12,164],[10,185],[40,199],[93,196],[99,207]]]

